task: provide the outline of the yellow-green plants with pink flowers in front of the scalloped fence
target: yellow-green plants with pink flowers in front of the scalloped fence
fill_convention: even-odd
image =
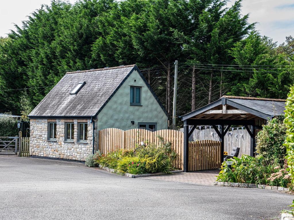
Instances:
[[[149,144],[138,146],[134,151],[116,150],[102,155],[97,163],[121,173],[143,174],[156,172],[170,172],[174,169],[173,160],[176,152],[171,150],[171,142],[166,142],[158,136],[161,145]]]

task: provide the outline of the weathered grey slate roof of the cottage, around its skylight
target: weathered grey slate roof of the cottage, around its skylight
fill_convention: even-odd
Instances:
[[[96,116],[135,69],[146,82],[136,65],[67,72],[29,117]],[[83,81],[86,84],[77,94],[69,94],[78,82]],[[159,102],[149,84],[146,84]],[[160,102],[159,104],[163,108]]]

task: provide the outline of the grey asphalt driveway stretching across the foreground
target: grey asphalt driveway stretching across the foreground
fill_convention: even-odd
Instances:
[[[294,196],[133,179],[82,163],[0,156],[0,219],[278,219]]]

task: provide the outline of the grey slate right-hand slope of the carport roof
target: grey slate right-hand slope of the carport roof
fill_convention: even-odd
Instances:
[[[222,98],[227,98],[233,102],[255,109],[270,116],[285,114],[285,99],[263,99],[237,96],[223,96]]]

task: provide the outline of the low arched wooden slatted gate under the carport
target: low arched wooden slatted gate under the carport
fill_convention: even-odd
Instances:
[[[220,141],[189,142],[189,171],[218,169],[221,155]]]

